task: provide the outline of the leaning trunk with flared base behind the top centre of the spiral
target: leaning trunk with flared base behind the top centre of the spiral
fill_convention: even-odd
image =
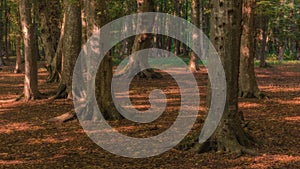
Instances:
[[[138,5],[138,13],[142,12],[153,12],[154,11],[154,1],[153,0],[137,0]],[[145,21],[141,21],[145,22]],[[149,21],[147,21],[147,24]],[[150,48],[152,47],[152,39],[153,36],[150,34],[140,34],[135,37],[132,53]],[[116,73],[117,76],[124,76],[124,77],[133,77],[135,75],[136,70],[143,70],[148,66],[148,58],[141,57],[139,55],[131,55],[129,57],[129,62],[125,67]],[[152,69],[146,69],[139,73],[141,78],[161,78],[159,73],[154,72]]]

